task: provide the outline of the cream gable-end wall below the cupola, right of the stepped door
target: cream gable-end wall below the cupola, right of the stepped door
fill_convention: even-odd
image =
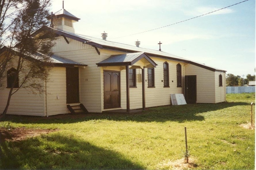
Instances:
[[[96,49],[88,44],[67,38],[69,44],[60,37],[56,40],[53,52],[56,55],[72,59],[83,64],[85,68],[79,68],[80,103],[89,112],[101,112],[101,88],[100,68],[96,63],[101,61]]]

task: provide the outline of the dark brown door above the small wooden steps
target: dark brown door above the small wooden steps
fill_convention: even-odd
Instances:
[[[66,68],[67,104],[79,103],[79,69]]]

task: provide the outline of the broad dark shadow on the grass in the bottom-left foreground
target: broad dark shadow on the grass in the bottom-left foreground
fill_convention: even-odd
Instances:
[[[145,169],[72,135],[41,135],[0,146],[0,169]]]

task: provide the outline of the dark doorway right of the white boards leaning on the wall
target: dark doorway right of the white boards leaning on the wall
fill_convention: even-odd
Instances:
[[[196,103],[196,75],[185,76],[185,99],[187,103]]]

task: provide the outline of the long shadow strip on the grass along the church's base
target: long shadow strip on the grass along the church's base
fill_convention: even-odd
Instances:
[[[217,111],[233,106],[246,106],[249,103],[244,102],[224,102],[216,104],[208,103],[197,103],[197,104],[187,104],[179,106],[159,106],[147,108],[146,111],[141,113],[91,113],[91,114],[80,114],[80,115],[56,115],[49,117],[33,117],[31,116],[7,116],[5,120],[16,122],[16,123],[75,123],[83,122],[89,120],[106,119],[115,121],[136,121],[136,122],[166,122],[174,121],[182,123],[184,121],[203,121],[205,119],[202,116],[204,112]]]

